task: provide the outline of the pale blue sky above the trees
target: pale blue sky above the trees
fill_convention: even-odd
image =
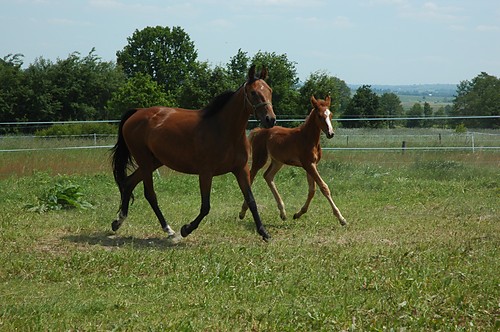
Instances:
[[[29,64],[95,47],[115,61],[136,29],[156,25],[182,27],[213,65],[240,48],[286,53],[302,81],[318,70],[348,84],[500,76],[498,0],[0,0],[0,56]]]

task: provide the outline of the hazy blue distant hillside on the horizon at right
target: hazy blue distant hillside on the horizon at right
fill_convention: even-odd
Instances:
[[[360,86],[359,84],[349,84],[353,93]],[[393,92],[399,96],[452,98],[457,93],[456,84],[371,85],[371,89],[377,94]]]

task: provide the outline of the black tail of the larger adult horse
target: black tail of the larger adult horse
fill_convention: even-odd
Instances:
[[[125,114],[123,114],[122,119],[120,121],[120,126],[118,128],[118,141],[115,146],[111,149],[111,158],[112,158],[112,166],[113,166],[113,176],[115,177],[116,184],[118,188],[120,188],[120,192],[122,191],[122,183],[127,178],[127,169],[130,165],[133,165],[132,156],[130,155],[130,151],[128,150],[127,144],[125,143],[125,139],[123,137],[123,124],[128,120],[135,112],[136,109],[129,110]]]

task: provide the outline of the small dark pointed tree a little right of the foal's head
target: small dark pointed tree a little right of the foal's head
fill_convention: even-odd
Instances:
[[[341,119],[376,118],[380,115],[379,97],[371,90],[370,85],[363,85],[356,90]],[[382,127],[382,121],[342,121],[348,128]]]

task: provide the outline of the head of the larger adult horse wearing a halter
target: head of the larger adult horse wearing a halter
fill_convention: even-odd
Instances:
[[[267,78],[267,69],[262,68],[260,75],[255,76],[255,65],[248,71],[248,80],[243,85],[245,106],[250,107],[256,119],[265,128],[271,128],[276,122],[273,111],[273,90],[264,81]]]

